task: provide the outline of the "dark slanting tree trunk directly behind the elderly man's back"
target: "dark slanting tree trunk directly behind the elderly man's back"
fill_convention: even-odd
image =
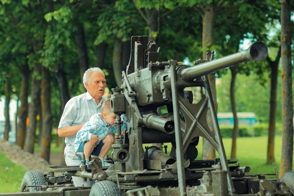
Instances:
[[[61,65],[58,65],[56,67],[56,70],[55,70],[55,74],[56,74],[56,78],[58,80],[58,85],[59,85],[59,91],[60,91],[60,98],[61,98],[61,109],[60,109],[60,118],[61,118],[61,115],[63,113],[63,110],[64,110],[64,107],[65,107],[65,104],[70,100],[70,94],[69,94],[69,84],[68,84],[68,80],[66,78],[66,73],[64,73],[63,71],[63,67]],[[59,118],[59,120],[60,120]],[[59,138],[59,136],[57,135],[57,138]],[[61,154],[61,158],[60,158],[60,164],[61,165],[66,165],[65,163],[65,160],[64,160],[64,148],[65,148],[65,143],[64,143],[64,138],[59,138],[62,142],[62,147],[61,147],[61,150],[62,150],[62,154]]]

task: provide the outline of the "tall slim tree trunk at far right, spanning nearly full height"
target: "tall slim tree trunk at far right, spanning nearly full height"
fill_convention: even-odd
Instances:
[[[280,177],[292,171],[293,163],[293,103],[291,62],[291,0],[282,0],[281,5],[281,57],[282,57],[282,155]]]

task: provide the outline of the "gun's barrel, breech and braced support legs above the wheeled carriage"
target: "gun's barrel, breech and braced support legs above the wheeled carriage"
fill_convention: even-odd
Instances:
[[[206,74],[248,60],[262,61],[268,56],[266,45],[257,42],[249,49],[236,54],[217,60],[211,60],[211,58],[197,61],[200,64],[193,67],[182,65],[174,60],[158,62],[159,51],[160,48],[157,49],[155,42],[148,42],[147,36],[131,38],[131,57],[126,73],[123,72],[123,84],[121,88],[113,89],[114,94],[111,96],[111,110],[118,114],[117,122],[121,122],[120,114],[122,113],[125,113],[128,119],[128,137],[123,143],[121,132],[118,131],[117,144],[113,146],[113,158],[119,161],[121,155],[129,160],[125,163],[119,161],[114,166],[120,165],[119,168],[124,168],[125,172],[154,169],[154,161],[160,161],[163,164],[161,156],[157,159],[148,159],[150,157],[144,159],[142,144],[171,142],[176,147],[176,157],[173,157],[176,158],[176,162],[172,165],[173,171],[176,172],[173,172],[172,175],[175,175],[175,178],[172,178],[178,179],[180,193],[184,195],[186,180],[193,176],[193,174],[185,175],[185,162],[188,160],[193,162],[197,156],[193,156],[195,150],[190,153],[187,149],[190,145],[195,147],[193,140],[201,136],[219,152],[222,171],[226,173],[228,192],[234,194],[235,189]],[[185,87],[204,87],[206,93],[195,104],[192,102],[192,92],[184,91]],[[160,106],[167,106],[169,114],[158,116],[156,111]],[[210,110],[213,130],[209,128],[206,120],[208,110]],[[120,150],[124,150],[123,154],[118,153]],[[184,159],[184,154],[185,157],[188,154],[190,159]],[[168,178],[170,179],[171,176]],[[157,180],[163,179],[165,177],[160,176]],[[156,180],[152,178],[152,181]]]

